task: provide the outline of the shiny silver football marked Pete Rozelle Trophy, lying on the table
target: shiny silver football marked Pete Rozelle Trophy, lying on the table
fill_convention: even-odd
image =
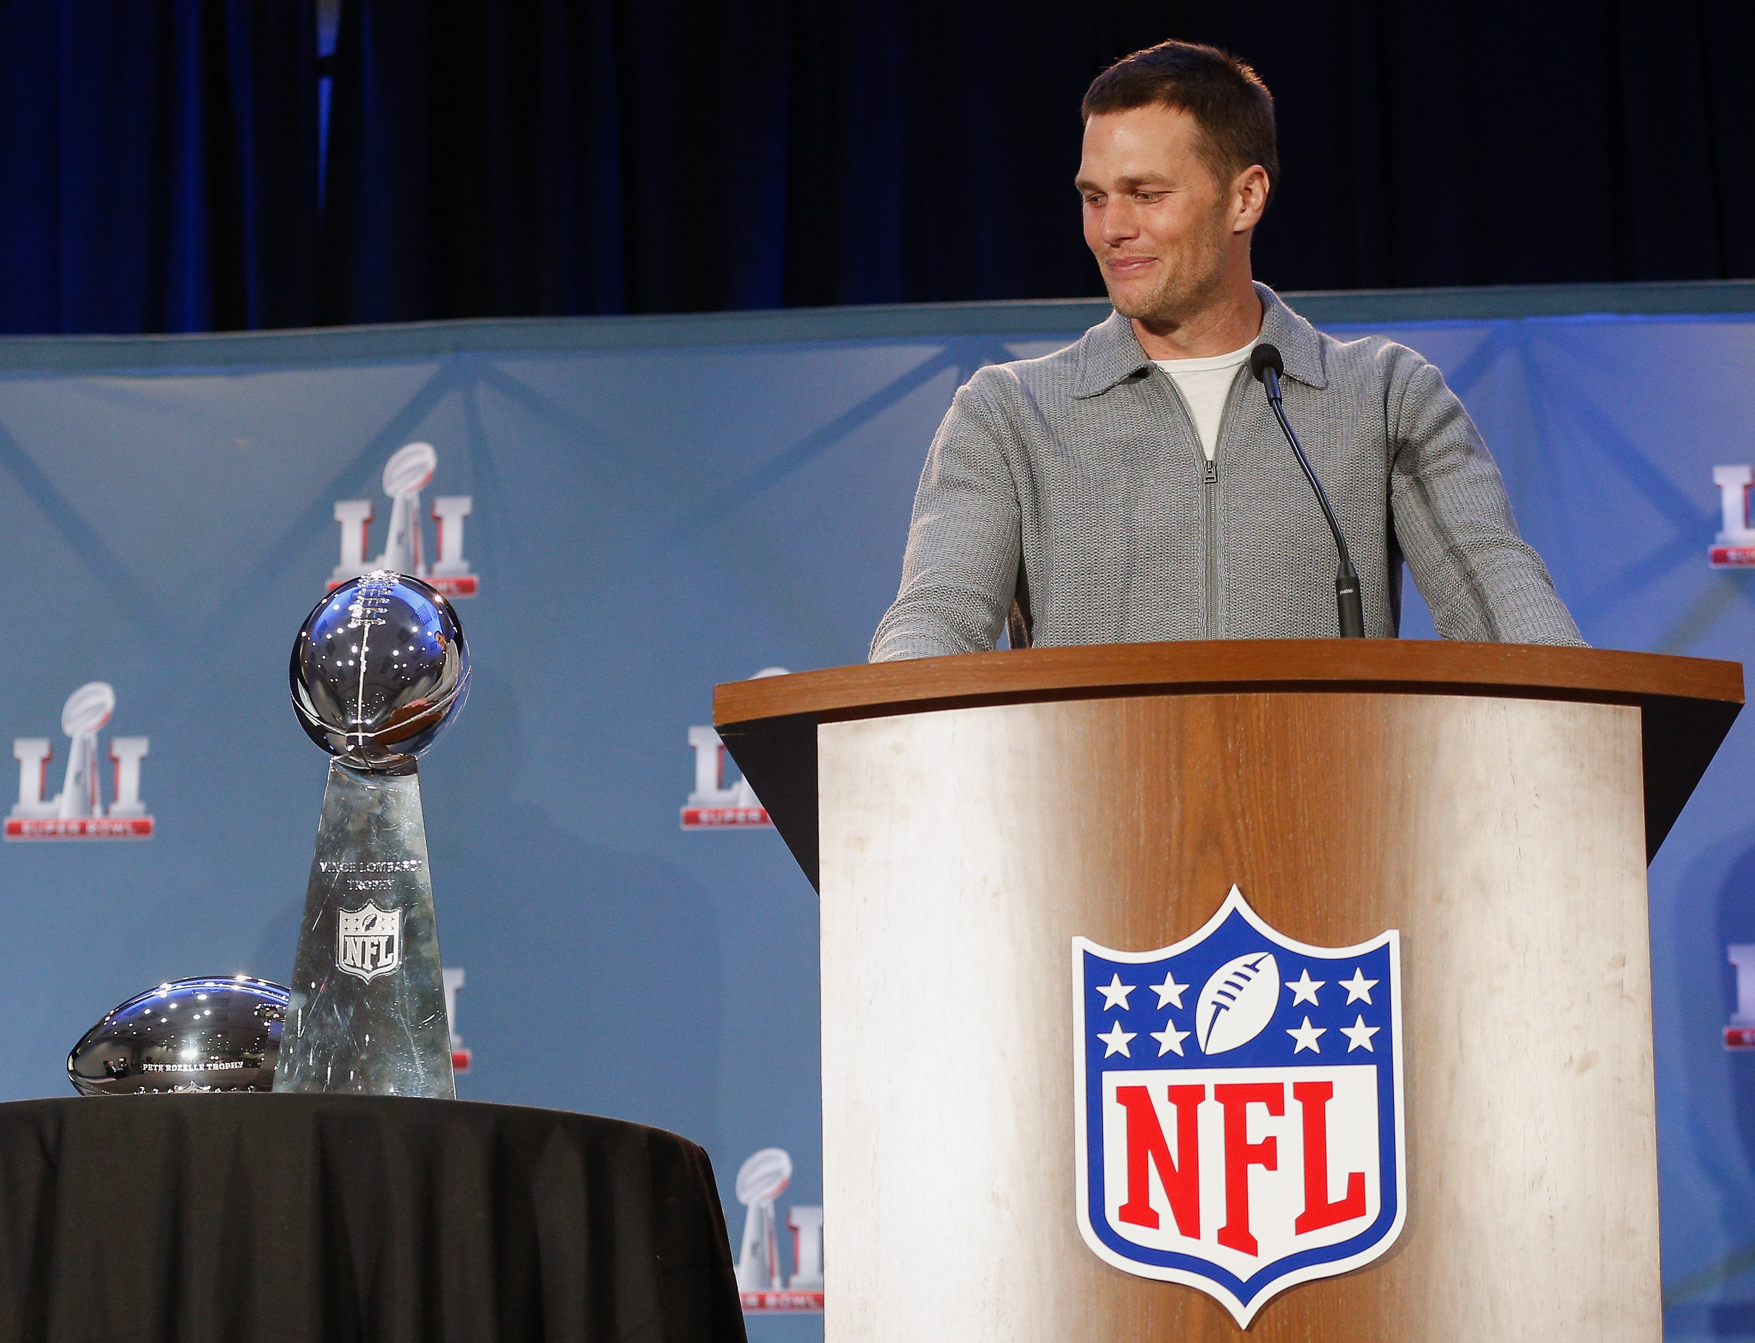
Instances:
[[[246,974],[161,983],[91,1027],[67,1076],[84,1095],[274,1090],[286,1002]]]

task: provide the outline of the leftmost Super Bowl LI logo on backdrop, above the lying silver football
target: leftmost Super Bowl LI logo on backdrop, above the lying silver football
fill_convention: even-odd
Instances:
[[[47,737],[14,737],[18,802],[5,818],[7,839],[151,839],[153,818],[140,801],[140,762],[147,737],[111,737],[114,765],[111,802],[104,806],[104,771],[98,765],[98,730],[116,713],[116,692],[90,681],[61,706],[61,732],[68,737],[61,792],[44,797],[54,746]]]

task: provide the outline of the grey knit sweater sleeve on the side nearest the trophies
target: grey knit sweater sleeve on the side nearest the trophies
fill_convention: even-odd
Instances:
[[[962,386],[927,453],[902,586],[872,636],[872,662],[986,653],[999,644],[1021,549],[1002,432],[976,381]]]

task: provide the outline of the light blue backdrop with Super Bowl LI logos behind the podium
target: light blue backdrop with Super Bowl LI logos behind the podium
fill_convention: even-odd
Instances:
[[[1755,316],[1509,316],[1690,304],[1755,312],[1727,286],[1302,307],[1444,369],[1592,643],[1743,658],[1750,578],[1706,553],[1711,469],[1755,462]],[[820,1203],[816,897],[770,830],[679,827],[688,729],[716,681],[863,658],[955,386],[1104,311],[0,341],[0,741],[49,737],[56,792],[61,704],[107,681],[105,750],[149,739],[154,818],[151,839],[0,848],[0,1099],[67,1094],[67,1046],[151,983],[286,978],[325,778],[286,657],[339,560],[333,506],[372,500],[383,549],[379,476],[418,439],[426,500],[472,500],[479,579],[458,602],[474,692],[421,765],[444,960],[467,971],[460,1094],[698,1139],[734,1241],[758,1148],[793,1157],[783,1218]],[[1755,1338],[1755,1057],[1722,1046],[1725,948],[1755,943],[1751,769],[1743,722],[1651,867],[1671,1339]]]

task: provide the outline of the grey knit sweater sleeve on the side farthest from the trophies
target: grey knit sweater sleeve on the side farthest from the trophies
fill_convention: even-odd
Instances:
[[[1411,349],[1392,349],[1390,511],[1439,636],[1583,646],[1548,567],[1518,535],[1499,467],[1457,393]]]

